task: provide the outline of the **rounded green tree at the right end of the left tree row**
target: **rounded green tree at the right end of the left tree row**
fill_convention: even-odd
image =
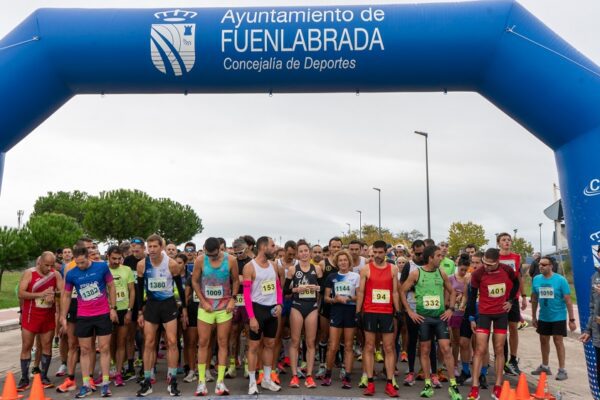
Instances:
[[[171,199],[158,199],[157,205],[159,221],[156,231],[165,240],[183,243],[202,232],[202,221],[192,207]]]

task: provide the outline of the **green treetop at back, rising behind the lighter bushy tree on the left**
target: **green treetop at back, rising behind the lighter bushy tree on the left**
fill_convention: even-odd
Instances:
[[[88,199],[89,195],[79,190],[74,192],[48,192],[46,196],[40,196],[35,201],[32,215],[64,214],[75,218],[81,224],[85,217]]]

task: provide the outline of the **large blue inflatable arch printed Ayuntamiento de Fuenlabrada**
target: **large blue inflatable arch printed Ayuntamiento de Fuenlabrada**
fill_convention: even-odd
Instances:
[[[556,154],[586,321],[600,243],[599,76],[513,1],[40,9],[0,41],[0,168],[78,94],[478,92]]]

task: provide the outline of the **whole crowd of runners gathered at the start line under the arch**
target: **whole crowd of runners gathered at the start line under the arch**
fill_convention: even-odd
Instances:
[[[44,252],[22,276],[18,390],[29,388],[30,372],[54,386],[55,345],[56,376],[64,376],[56,390],[76,391],[76,398],[97,388],[109,397],[111,382],[129,381],[139,384],[137,396],[148,396],[160,379],[157,360],[166,358],[171,396],[191,394],[185,384],[194,382],[194,395],[208,395],[213,381],[214,393],[227,395],[226,378],[241,374],[248,394],[298,388],[301,380],[307,388],[352,389],[358,378],[363,394],[373,396],[378,378],[390,397],[423,381],[425,398],[447,382],[452,400],[463,398],[463,385],[470,386],[467,399],[479,399],[482,389],[498,399],[504,375],[520,373],[520,310],[528,306],[521,257],[511,245],[501,233],[497,248],[467,246],[453,260],[447,243],[431,239],[407,247],[342,245],[334,237],[323,247],[299,240],[278,248],[269,237],[242,236],[230,247],[208,238],[202,248],[189,242],[179,251],[151,235],[101,256],[82,238],[58,254]],[[552,259],[536,262],[530,295],[542,364],[533,373],[551,374],[552,338],[556,379],[563,380],[562,338],[567,326],[575,330],[569,286]],[[488,383],[491,362],[496,373]]]

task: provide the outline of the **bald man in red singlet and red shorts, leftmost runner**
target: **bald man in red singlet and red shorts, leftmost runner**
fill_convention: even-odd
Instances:
[[[23,301],[20,391],[29,387],[31,348],[38,334],[42,343],[42,383],[44,387],[53,386],[48,379],[48,368],[52,360],[52,338],[56,326],[54,298],[63,289],[60,273],[54,270],[54,262],[54,253],[44,252],[36,266],[26,270],[19,282],[19,299]]]

